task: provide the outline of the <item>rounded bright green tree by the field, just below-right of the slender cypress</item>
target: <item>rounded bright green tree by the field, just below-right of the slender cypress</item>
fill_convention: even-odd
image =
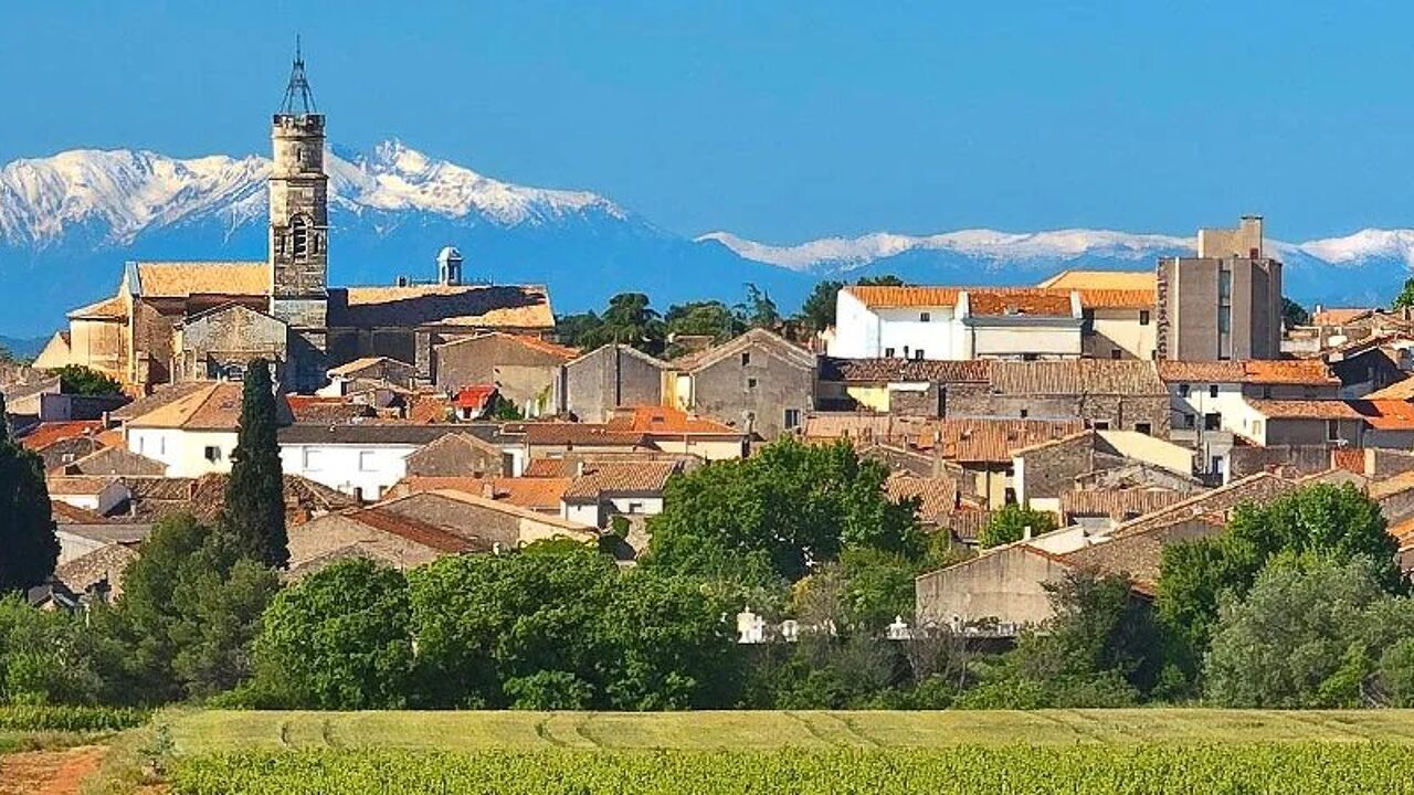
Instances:
[[[334,563],[262,617],[253,692],[286,709],[400,709],[413,672],[407,580],[370,560]]]

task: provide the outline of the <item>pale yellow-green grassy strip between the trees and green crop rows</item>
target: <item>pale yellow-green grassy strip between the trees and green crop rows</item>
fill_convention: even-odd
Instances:
[[[1200,709],[699,713],[165,713],[178,755],[286,748],[428,751],[942,748],[1077,743],[1414,744],[1414,710]]]

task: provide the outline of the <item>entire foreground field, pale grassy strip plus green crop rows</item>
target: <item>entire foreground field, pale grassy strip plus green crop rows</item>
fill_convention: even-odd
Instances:
[[[174,795],[1414,795],[1414,710],[173,712],[150,726],[174,741]]]

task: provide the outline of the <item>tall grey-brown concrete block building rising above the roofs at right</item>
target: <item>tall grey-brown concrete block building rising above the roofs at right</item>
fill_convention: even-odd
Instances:
[[[1261,216],[1199,229],[1198,256],[1158,263],[1158,358],[1281,356],[1281,263],[1263,253]]]

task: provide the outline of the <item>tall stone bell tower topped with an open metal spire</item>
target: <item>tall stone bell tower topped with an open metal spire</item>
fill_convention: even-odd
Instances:
[[[324,173],[324,115],[296,44],[284,102],[270,123],[270,314],[290,325],[290,386],[324,382],[328,348],[329,178]]]

